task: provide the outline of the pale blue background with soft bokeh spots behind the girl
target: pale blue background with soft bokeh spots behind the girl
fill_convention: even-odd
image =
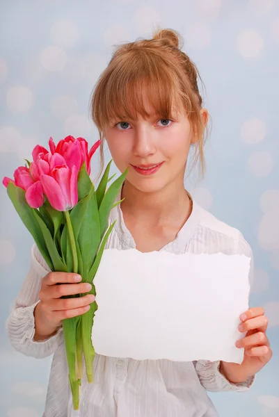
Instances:
[[[94,6],[95,5],[95,6]],[[279,415],[279,1],[1,1],[0,176],[68,134],[92,145],[90,92],[118,42],[174,28],[205,83],[212,133],[197,201],[237,227],[255,256],[250,304],[264,306],[273,359],[247,393],[210,394],[221,417]],[[106,151],[106,161],[109,152]],[[98,158],[94,156],[94,174]],[[29,268],[32,238],[0,188],[1,416],[42,415],[51,358],[15,352],[4,322]]]

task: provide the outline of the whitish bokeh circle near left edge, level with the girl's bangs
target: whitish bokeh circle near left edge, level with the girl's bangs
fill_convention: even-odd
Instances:
[[[34,104],[33,92],[25,85],[17,85],[8,90],[6,102],[8,109],[13,113],[24,113]]]

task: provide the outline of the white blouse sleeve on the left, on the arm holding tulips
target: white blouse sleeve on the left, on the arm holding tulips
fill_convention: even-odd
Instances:
[[[35,358],[44,358],[53,354],[63,343],[62,328],[43,341],[34,341],[34,309],[40,302],[39,292],[42,278],[49,273],[49,267],[38,247],[31,248],[31,265],[19,295],[15,299],[13,310],[6,321],[6,331],[15,350]]]

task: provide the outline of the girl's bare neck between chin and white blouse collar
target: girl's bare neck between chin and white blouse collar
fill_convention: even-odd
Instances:
[[[170,218],[178,220],[191,209],[191,200],[183,181],[179,184],[170,183],[154,193],[143,193],[125,181],[122,198],[125,198],[121,204],[124,216],[129,214],[133,218],[146,220],[148,223],[158,224]]]

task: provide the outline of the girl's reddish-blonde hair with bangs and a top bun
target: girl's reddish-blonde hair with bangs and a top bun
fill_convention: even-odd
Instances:
[[[193,167],[200,160],[205,172],[203,145],[206,126],[200,109],[198,89],[200,74],[196,65],[182,51],[182,37],[172,29],[157,29],[150,40],[138,39],[118,46],[93,90],[90,111],[101,139],[101,170],[104,167],[104,129],[112,120],[136,120],[148,117],[142,91],[148,85],[149,102],[162,118],[171,119],[173,108],[181,105],[198,140]]]

